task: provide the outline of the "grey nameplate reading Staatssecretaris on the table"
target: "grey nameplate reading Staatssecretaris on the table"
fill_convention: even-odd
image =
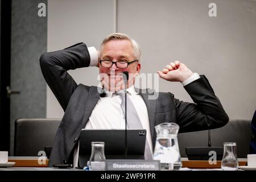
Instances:
[[[160,160],[108,159],[106,171],[159,171]]]

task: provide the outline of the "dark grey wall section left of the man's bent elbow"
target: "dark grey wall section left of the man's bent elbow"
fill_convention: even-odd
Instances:
[[[38,4],[47,0],[13,0],[11,23],[10,155],[16,118],[46,117],[46,82],[39,57],[47,51],[47,17],[38,16]]]

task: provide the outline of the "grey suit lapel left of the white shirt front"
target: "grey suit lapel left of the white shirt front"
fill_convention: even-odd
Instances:
[[[101,89],[101,88],[99,88]],[[84,117],[82,118],[82,128],[85,127],[86,123],[89,120],[90,115],[92,114],[92,110],[97,104],[98,100],[100,98],[100,93],[98,92],[97,86],[91,86],[89,90],[89,94],[87,97],[87,101],[85,104],[85,111],[84,111]]]

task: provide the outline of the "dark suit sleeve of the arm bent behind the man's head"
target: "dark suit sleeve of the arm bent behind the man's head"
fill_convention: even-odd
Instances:
[[[69,98],[77,88],[75,80],[67,71],[89,65],[90,55],[84,43],[60,51],[43,53],[40,57],[43,76],[64,111]]]

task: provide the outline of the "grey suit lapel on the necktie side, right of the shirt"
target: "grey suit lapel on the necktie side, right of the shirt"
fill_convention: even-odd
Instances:
[[[147,92],[148,90],[146,90],[146,89],[142,90],[142,89],[135,88],[135,90],[137,90],[137,92],[139,92],[139,94],[141,94],[141,97],[143,98],[143,101],[145,102],[145,104],[147,106],[148,119],[149,119],[149,123],[150,123],[150,133],[151,133],[152,141],[154,143],[156,99],[149,100],[148,96],[150,94],[148,94],[148,92]]]

